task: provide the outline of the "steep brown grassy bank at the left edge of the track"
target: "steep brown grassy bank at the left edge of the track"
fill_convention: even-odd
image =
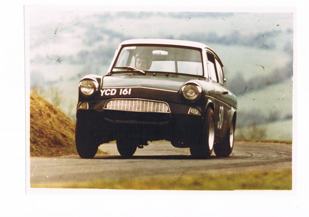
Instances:
[[[30,156],[56,157],[77,154],[75,124],[57,107],[30,95]]]

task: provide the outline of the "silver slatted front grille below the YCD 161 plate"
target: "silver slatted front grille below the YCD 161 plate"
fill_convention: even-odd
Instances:
[[[171,113],[166,102],[144,99],[112,99],[104,109],[120,111]]]

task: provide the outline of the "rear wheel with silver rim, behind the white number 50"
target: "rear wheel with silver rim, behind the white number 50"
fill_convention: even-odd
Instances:
[[[229,130],[226,132],[222,144],[214,145],[214,153],[217,157],[227,157],[232,153],[234,147],[234,132],[235,128],[232,121]]]

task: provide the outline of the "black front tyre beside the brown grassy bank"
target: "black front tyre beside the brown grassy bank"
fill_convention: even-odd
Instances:
[[[77,120],[75,124],[75,145],[81,158],[93,158],[99,147],[96,144],[95,133]]]

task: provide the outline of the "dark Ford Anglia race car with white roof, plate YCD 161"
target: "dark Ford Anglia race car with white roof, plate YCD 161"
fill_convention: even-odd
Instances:
[[[202,43],[165,39],[122,42],[105,76],[79,83],[76,149],[93,158],[116,140],[122,156],[148,141],[190,148],[194,158],[229,156],[237,101],[225,87],[223,64]]]

